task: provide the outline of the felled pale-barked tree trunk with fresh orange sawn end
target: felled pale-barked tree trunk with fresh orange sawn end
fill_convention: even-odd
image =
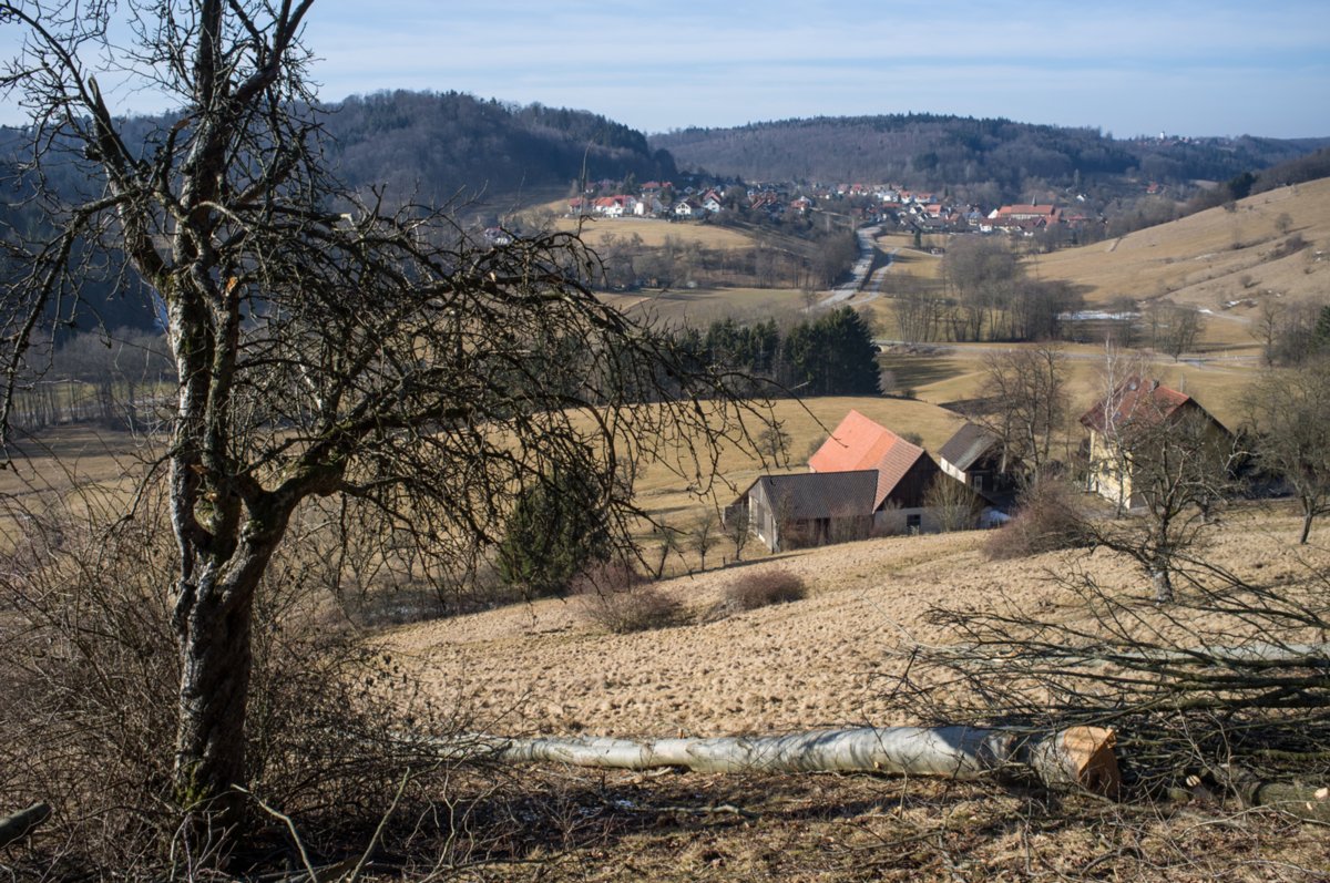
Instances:
[[[508,763],[626,770],[677,766],[697,773],[862,771],[952,779],[1033,775],[1049,787],[1079,787],[1108,797],[1116,795],[1121,785],[1113,731],[1092,726],[1049,735],[966,726],[900,726],[642,742],[476,737],[467,750]]]

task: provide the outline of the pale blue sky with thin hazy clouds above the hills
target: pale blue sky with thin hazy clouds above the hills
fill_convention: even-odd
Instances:
[[[318,0],[305,43],[327,101],[455,89],[646,133],[927,112],[1330,136],[1327,0]]]

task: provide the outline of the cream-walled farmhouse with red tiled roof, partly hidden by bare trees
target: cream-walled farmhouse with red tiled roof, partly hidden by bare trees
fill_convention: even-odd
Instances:
[[[1140,505],[1144,500],[1132,487],[1133,442],[1144,430],[1188,419],[1201,422],[1202,435],[1216,444],[1230,439],[1224,424],[1185,392],[1138,376],[1124,380],[1081,415],[1081,426],[1089,431],[1085,488],[1121,505]]]

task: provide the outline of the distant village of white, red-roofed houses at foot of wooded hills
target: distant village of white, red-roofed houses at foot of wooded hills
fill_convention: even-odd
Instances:
[[[674,218],[696,221],[726,211],[738,201],[750,210],[773,217],[806,214],[829,201],[857,198],[859,218],[866,223],[896,222],[924,233],[979,231],[1033,235],[1056,226],[1076,227],[1091,222],[1088,215],[1055,205],[1004,205],[983,210],[975,205],[948,202],[934,193],[910,191],[887,185],[842,184],[835,188],[810,188],[809,194],[790,197],[787,190],[773,186],[746,186],[742,193],[732,188],[684,188],[676,191],[670,182],[648,181],[636,193],[609,193],[612,182],[601,182],[584,195],[568,201],[568,214],[602,218]],[[602,195],[595,195],[602,193]]]

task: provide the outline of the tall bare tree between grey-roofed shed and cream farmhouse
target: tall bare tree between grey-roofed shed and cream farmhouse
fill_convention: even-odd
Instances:
[[[1003,471],[1035,481],[1052,463],[1067,420],[1065,356],[1056,346],[984,356],[978,422],[1001,440]]]

